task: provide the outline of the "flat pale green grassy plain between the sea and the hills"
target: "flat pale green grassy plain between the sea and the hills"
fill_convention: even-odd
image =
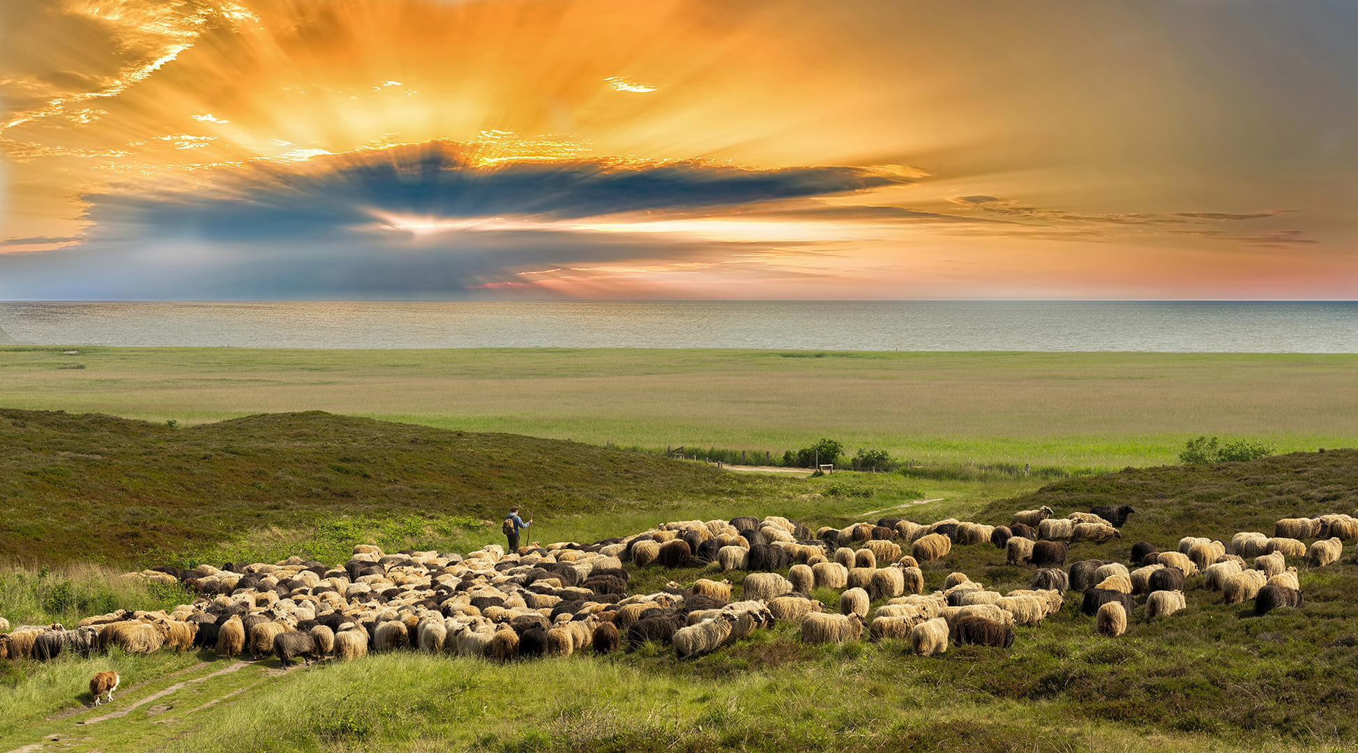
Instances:
[[[0,406],[196,425],[323,410],[467,431],[1122,468],[1198,434],[1358,444],[1358,355],[7,346]]]

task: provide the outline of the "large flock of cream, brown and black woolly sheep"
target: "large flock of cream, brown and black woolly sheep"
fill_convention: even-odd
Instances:
[[[1253,600],[1256,615],[1300,606],[1297,568],[1286,558],[1305,556],[1308,564],[1324,567],[1340,559],[1344,541],[1358,539],[1358,520],[1324,514],[1281,520],[1272,537],[1184,537],[1176,551],[1164,552],[1138,541],[1127,564],[1086,559],[1062,568],[1071,541],[1118,539],[1133,513],[1127,506],[1096,507],[1057,518],[1042,507],[1014,513],[1009,525],[881,518],[815,533],[781,517],[737,517],[667,522],[623,539],[508,554],[492,544],[466,556],[388,555],[360,544],[333,567],[296,556],[223,568],[155,567],[129,577],[182,583],[197,597],[170,612],[87,617],[71,630],[53,624],[11,631],[0,619],[0,658],[198,646],[224,658],[273,654],[284,665],[392,650],[507,661],[584,649],[610,653],[648,640],[687,658],[777,620],[797,623],[805,643],[860,640],[866,627],[872,640],[906,640],[914,653],[933,655],[953,643],[1008,647],[1014,625],[1040,624],[1071,590],[1095,630],[1109,636],[1126,631],[1138,606],[1148,619],[1183,609],[1184,585],[1198,578],[1203,587],[1222,592],[1228,604]],[[1308,547],[1305,539],[1315,541]],[[925,593],[921,563],[956,545],[1004,549],[1009,563],[1033,567],[1031,587],[999,593],[952,573],[941,589]],[[637,568],[703,564],[747,573],[739,598],[731,581],[713,578],[629,593]],[[824,589],[838,592],[838,608],[809,596],[824,597]]]

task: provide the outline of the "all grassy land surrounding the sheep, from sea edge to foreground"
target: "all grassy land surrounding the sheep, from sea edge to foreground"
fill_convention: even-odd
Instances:
[[[121,577],[151,564],[334,564],[356,543],[467,552],[502,543],[508,502],[538,520],[526,541],[543,544],[743,514],[815,532],[879,517],[994,525],[1042,505],[1138,510],[1122,537],[1073,544],[1067,566],[1127,563],[1138,540],[1173,551],[1181,536],[1358,514],[1358,452],[1336,452],[1358,446],[1348,355],[61,350],[0,351],[0,616],[14,625],[193,598]],[[1279,456],[1179,465],[1199,434]],[[781,455],[820,437],[919,463],[1096,472],[804,479],[622,449]],[[779,621],[697,661],[659,643],[292,669],[206,649],[0,659],[0,752],[1355,752],[1354,543],[1324,567],[1287,564],[1300,609],[1255,617],[1190,578],[1187,609],[1138,609],[1126,635],[1104,638],[1070,592],[1010,649],[932,658],[866,631],[808,646]],[[921,566],[925,593],[951,573],[1023,589],[1033,570],[989,544]],[[729,578],[739,594],[747,575],[627,567],[630,593]],[[834,590],[809,596],[837,611]],[[124,681],[95,710],[86,684],[102,669]]]

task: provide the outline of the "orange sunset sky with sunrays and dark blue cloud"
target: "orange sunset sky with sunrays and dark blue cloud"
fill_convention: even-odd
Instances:
[[[0,300],[1355,298],[1350,0],[3,0]]]

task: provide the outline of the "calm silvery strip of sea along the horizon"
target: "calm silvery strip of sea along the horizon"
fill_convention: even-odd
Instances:
[[[0,342],[1358,353],[1358,303],[0,303]]]

